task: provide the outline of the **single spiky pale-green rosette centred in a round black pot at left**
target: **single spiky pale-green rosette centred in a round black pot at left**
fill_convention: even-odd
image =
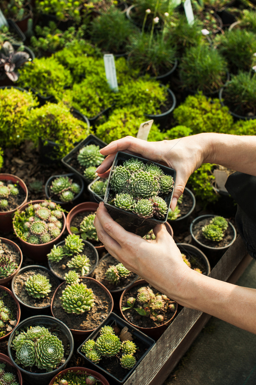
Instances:
[[[40,273],[28,277],[25,286],[28,295],[33,298],[44,298],[51,291],[50,281]]]

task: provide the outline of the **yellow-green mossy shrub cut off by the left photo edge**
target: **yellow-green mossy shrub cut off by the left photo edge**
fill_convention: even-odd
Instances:
[[[0,89],[0,137],[2,147],[13,147],[25,139],[26,123],[38,102],[31,92]]]

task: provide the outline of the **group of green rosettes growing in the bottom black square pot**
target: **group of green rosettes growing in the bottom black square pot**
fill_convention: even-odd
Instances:
[[[102,357],[119,357],[120,364],[125,369],[131,369],[136,363],[134,353],[137,346],[134,342],[122,341],[114,333],[112,326],[105,325],[99,331],[99,336],[94,340],[87,340],[81,347],[81,352],[94,363]]]

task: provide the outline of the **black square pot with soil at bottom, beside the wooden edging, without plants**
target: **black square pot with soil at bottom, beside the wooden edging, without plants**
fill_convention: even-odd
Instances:
[[[99,361],[99,363],[95,364],[91,360],[89,360],[83,352],[81,352],[81,347],[87,340],[95,340],[99,336],[99,330],[105,326],[117,326],[120,330],[122,328],[127,327],[128,331],[132,333],[133,336],[133,342],[138,346],[139,349],[137,352],[134,353],[134,356],[137,360],[134,367],[129,369],[124,369],[121,367],[119,363],[119,359],[115,357],[104,357]],[[83,343],[79,346],[77,352],[83,357],[84,360],[86,360],[86,363],[88,363],[88,367],[94,368],[97,372],[102,373],[111,383],[111,385],[117,385],[117,384],[123,384],[127,378],[131,375],[131,373],[135,370],[135,368],[139,365],[139,363],[143,360],[143,358],[147,355],[147,353],[150,351],[152,346],[155,345],[155,341],[152,340],[149,336],[145,335],[138,329],[131,326],[126,321],[122,320],[119,316],[117,316],[115,313],[110,313],[110,315],[107,317],[107,319],[99,325],[99,327],[89,335],[89,337],[83,341]],[[113,360],[114,358],[114,360]],[[110,367],[110,362],[114,361],[113,368]],[[117,368],[121,368],[121,371],[119,372],[119,377],[117,376]]]

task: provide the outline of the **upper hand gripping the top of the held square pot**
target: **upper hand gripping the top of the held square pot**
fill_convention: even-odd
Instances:
[[[171,203],[172,211],[174,211],[177,200],[184,191],[188,178],[192,172],[201,166],[204,159],[203,148],[198,135],[162,142],[147,142],[132,136],[126,136],[111,142],[100,150],[101,154],[107,155],[107,157],[96,170],[98,176],[106,178],[109,175],[117,151],[126,151],[165,164],[176,170],[176,181]]]

